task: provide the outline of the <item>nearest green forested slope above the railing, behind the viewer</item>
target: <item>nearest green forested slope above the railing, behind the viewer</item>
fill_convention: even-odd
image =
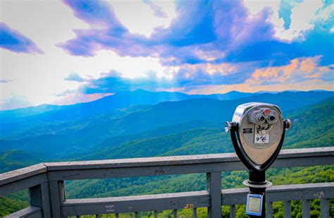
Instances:
[[[287,112],[292,128],[286,132],[285,148],[328,147],[334,144],[334,98]],[[326,114],[326,116],[323,116]],[[223,128],[193,128],[158,137],[104,140],[78,159],[117,159],[233,152],[230,135]]]

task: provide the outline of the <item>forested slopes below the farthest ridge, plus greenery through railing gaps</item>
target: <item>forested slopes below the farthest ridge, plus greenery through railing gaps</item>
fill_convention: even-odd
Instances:
[[[292,99],[287,101],[286,95],[291,95]],[[305,96],[293,92],[262,95],[267,102],[282,105],[283,116],[292,121],[292,128],[286,132],[283,149],[334,145],[334,98],[320,97],[316,102],[315,95],[311,93],[307,95],[310,101],[307,98],[294,99]],[[1,140],[0,170],[10,171],[50,161],[233,152],[230,136],[223,131],[223,123],[230,121],[237,104],[248,102],[252,97],[229,101],[190,99],[152,106],[132,105],[107,114],[47,124],[42,129],[35,126],[23,133],[14,133],[13,138],[16,139]],[[302,107],[297,107],[299,105]],[[35,133],[35,136],[27,138],[30,133]],[[267,176],[275,185],[333,182],[333,167],[270,169]],[[242,187],[242,181],[246,178],[245,171],[224,173],[222,187]],[[66,192],[68,198],[170,193],[204,190],[205,181],[204,174],[68,181]],[[26,200],[26,193],[0,198],[0,217],[25,207]],[[318,204],[312,202],[315,217],[319,211]],[[274,205],[276,217],[283,216],[281,208],[280,203]],[[293,202],[292,210],[295,217],[300,217],[300,202]],[[331,210],[334,214],[334,208]],[[179,213],[187,216],[190,212],[184,210]],[[199,211],[199,217],[205,217],[205,214],[205,210]],[[228,215],[225,207],[223,214]],[[237,207],[237,214],[240,217],[244,214],[242,206]],[[168,216],[168,212],[163,215]]]

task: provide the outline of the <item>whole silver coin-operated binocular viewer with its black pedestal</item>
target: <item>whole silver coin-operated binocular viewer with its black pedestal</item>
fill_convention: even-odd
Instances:
[[[249,169],[249,180],[244,184],[250,190],[246,204],[250,217],[265,216],[265,191],[272,185],[266,181],[266,169],[278,156],[285,129],[290,126],[289,119],[283,120],[279,107],[258,102],[239,105],[232,122],[225,123],[237,156]]]

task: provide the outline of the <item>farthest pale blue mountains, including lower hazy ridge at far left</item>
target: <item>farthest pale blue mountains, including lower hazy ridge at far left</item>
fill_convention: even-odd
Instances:
[[[73,119],[87,118],[99,114],[111,113],[115,109],[131,105],[153,105],[159,102],[180,101],[186,99],[238,99],[256,95],[256,93],[228,92],[214,95],[187,95],[180,92],[148,92],[135,90],[117,92],[115,95],[103,97],[93,102],[57,106],[43,104],[37,107],[0,111],[0,138],[13,135],[14,132],[24,132],[28,129],[38,129],[41,126],[54,125]]]

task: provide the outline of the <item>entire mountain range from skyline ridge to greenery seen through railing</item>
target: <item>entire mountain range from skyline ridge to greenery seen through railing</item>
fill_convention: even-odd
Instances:
[[[223,124],[245,102],[277,104],[292,121],[283,149],[334,145],[334,92],[185,95],[137,90],[82,104],[0,111],[0,173],[39,162],[233,152]],[[332,175],[333,166],[267,171],[276,184],[333,182]],[[245,179],[245,171],[225,172],[222,187],[240,187]],[[205,187],[204,174],[109,178],[66,181],[66,195],[94,198]],[[26,207],[27,198],[22,192],[0,198],[0,217]]]

